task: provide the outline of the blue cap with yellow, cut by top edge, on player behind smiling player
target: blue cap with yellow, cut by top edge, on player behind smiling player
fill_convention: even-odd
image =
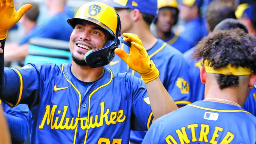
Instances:
[[[154,16],[157,14],[157,0],[113,0],[106,4],[114,8],[138,9],[140,12]]]

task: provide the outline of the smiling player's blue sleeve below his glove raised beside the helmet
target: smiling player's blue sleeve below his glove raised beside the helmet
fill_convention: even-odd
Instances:
[[[153,113],[150,107],[146,85],[135,76],[131,76],[127,84],[132,92],[130,93],[132,95],[131,129],[136,131],[148,130],[152,123]]]

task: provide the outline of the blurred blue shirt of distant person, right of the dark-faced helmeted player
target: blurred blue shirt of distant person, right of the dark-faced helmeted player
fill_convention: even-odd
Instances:
[[[194,47],[204,36],[208,34],[203,18],[196,18],[179,27],[180,37],[188,41],[190,47]]]

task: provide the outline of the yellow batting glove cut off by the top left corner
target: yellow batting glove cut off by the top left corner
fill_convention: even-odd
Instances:
[[[13,0],[0,0],[0,40],[7,36],[9,28],[12,28],[30,8],[31,4],[23,5],[15,11]]]

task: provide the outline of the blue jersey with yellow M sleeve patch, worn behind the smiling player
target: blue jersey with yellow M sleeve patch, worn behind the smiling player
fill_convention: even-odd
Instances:
[[[130,48],[121,44],[121,49],[129,53]],[[151,60],[158,68],[159,78],[165,89],[172,96],[177,105],[186,105],[190,102],[190,80],[188,74],[188,64],[182,54],[174,47],[158,39],[157,43],[148,51]],[[129,68],[129,66],[118,56],[107,65],[108,68],[117,72],[128,72],[141,78],[140,74]],[[131,144],[141,143],[146,131],[131,131]]]

